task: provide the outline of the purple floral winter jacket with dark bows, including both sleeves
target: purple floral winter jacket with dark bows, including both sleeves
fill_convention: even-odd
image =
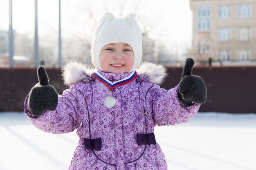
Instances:
[[[111,82],[130,75],[99,73]],[[145,73],[116,86],[112,91],[116,104],[106,108],[103,101],[110,96],[108,87],[91,74],[82,74],[84,81],[59,95],[55,111],[34,117],[28,109],[28,97],[24,104],[25,114],[40,130],[58,134],[77,129],[79,146],[69,170],[167,170],[161,148],[152,144],[154,127],[184,123],[197,113],[200,104],[183,107],[177,97],[179,86],[165,90],[146,81],[150,74]],[[144,134],[140,146],[137,134]]]

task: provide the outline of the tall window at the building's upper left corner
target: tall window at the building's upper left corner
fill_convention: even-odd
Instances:
[[[199,31],[210,30],[210,7],[209,6],[198,7],[198,30]]]

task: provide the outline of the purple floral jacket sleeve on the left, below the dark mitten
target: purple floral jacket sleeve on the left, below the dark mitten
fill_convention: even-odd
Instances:
[[[31,114],[28,107],[28,98],[29,95],[24,102],[24,112],[38,129],[59,134],[72,132],[78,127],[77,113],[79,112],[79,103],[74,84],[70,86],[70,89],[63,91],[62,95],[58,96],[58,105],[55,111],[45,111],[40,116]]]

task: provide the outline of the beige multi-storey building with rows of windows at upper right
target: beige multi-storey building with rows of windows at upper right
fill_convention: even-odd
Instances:
[[[256,0],[190,0],[191,53],[200,64],[256,64]]]

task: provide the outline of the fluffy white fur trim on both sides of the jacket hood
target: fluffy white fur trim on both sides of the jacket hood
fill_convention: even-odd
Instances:
[[[76,82],[83,81],[83,79],[92,80],[94,77],[91,76],[91,73],[93,73],[94,70],[94,67],[87,67],[79,62],[70,62],[62,69],[64,84],[71,86]],[[150,62],[141,63],[136,71],[138,76],[147,75],[145,76],[145,80],[156,84],[161,84],[167,76],[166,68],[164,68],[164,66]]]

